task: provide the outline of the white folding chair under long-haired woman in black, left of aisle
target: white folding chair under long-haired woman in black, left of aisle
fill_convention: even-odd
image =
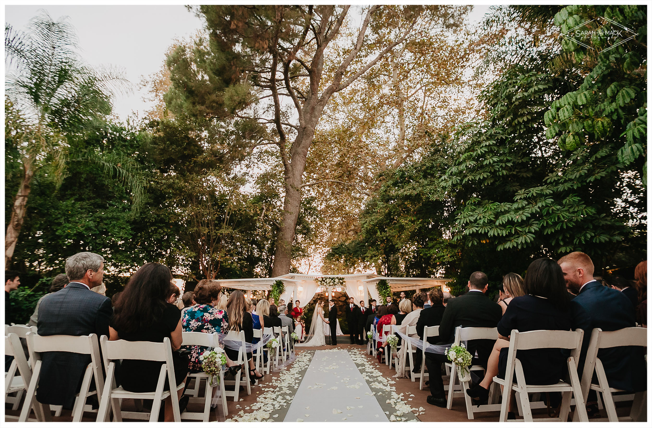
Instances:
[[[100,401],[100,408],[97,412],[98,422],[107,422],[109,420],[110,409],[113,410],[113,421],[121,422],[123,418],[128,419],[145,419],[150,422],[158,421],[158,414],[161,408],[161,401],[171,397],[172,413],[175,422],[181,422],[179,413],[179,396],[177,391],[183,390],[185,383],[177,386],[173,392],[163,390],[166,377],[170,386],[176,384],[174,375],[174,364],[172,362],[172,348],[170,338],[164,337],[163,342],[145,342],[145,341],[110,341],[108,337],[100,337],[102,346],[102,360],[106,367],[106,382],[104,383],[104,392]],[[156,390],[153,392],[129,392],[122,386],[117,386],[115,381],[115,361],[116,360],[147,360],[160,361],[161,369],[158,373],[158,382]],[[153,400],[151,412],[123,412],[121,410],[121,399],[134,400]]]

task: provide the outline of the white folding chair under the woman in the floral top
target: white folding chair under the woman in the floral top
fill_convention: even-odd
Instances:
[[[183,332],[181,333],[183,337],[182,345],[195,345],[200,347],[207,347],[208,349],[214,349],[218,346],[218,336],[216,333],[200,333],[200,332]],[[188,399],[188,403],[201,403],[202,399],[199,396],[200,384],[203,380],[205,382],[205,394],[203,397],[204,411],[203,413],[199,412],[183,412],[181,414],[181,419],[192,419],[192,420],[201,420],[204,422],[209,421],[211,416],[211,402],[213,401],[213,393],[215,392],[215,387],[211,386],[209,382],[209,375],[203,371],[200,373],[190,373],[188,375],[188,383],[190,379],[194,378],[194,388],[186,389],[186,395],[191,395]],[[226,410],[226,394],[224,390],[224,371],[220,369],[220,385],[216,388],[220,388],[220,401],[218,404],[222,406],[222,411],[224,416],[226,416],[228,410]]]

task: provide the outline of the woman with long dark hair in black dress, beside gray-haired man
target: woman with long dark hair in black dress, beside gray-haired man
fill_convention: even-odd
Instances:
[[[113,310],[109,328],[110,340],[147,341],[162,343],[170,339],[172,350],[181,347],[181,310],[166,300],[172,294],[172,272],[160,263],[146,263],[129,278]],[[175,386],[186,381],[188,356],[172,352]],[[147,360],[122,360],[116,372],[117,382],[130,392],[156,390],[163,363]],[[170,390],[166,378],[164,390]],[[179,398],[183,390],[179,390]],[[165,400],[165,421],[173,421],[172,401]],[[183,410],[181,410],[183,412]]]

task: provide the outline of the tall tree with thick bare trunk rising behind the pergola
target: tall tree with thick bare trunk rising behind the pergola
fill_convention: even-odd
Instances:
[[[284,204],[273,276],[289,272],[308,150],[333,94],[411,37],[421,16],[446,7],[201,6],[208,40],[168,56],[173,112],[246,124],[250,147],[276,145]],[[346,31],[345,31],[346,30]],[[288,102],[282,101],[287,97]]]

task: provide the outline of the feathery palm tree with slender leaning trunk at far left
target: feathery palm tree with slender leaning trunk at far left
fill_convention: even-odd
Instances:
[[[115,88],[112,85],[123,83],[115,74],[100,74],[82,64],[76,48],[72,26],[63,19],[53,21],[46,12],[30,22],[28,33],[5,27],[5,51],[11,66],[7,75],[5,139],[20,159],[23,175],[18,190],[14,190],[16,197],[5,235],[5,264],[18,242],[33,178],[42,171],[61,183],[70,136],[82,135],[94,122],[110,114]],[[124,178],[134,195],[141,195],[142,184],[131,174],[128,160],[112,163],[92,151],[80,156],[102,163],[106,173]]]

